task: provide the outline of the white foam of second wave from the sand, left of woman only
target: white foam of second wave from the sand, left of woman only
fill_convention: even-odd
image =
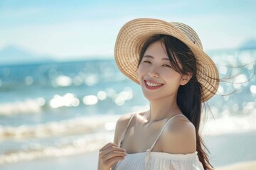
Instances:
[[[0,140],[50,137],[114,130],[119,115],[97,115],[38,125],[0,126]]]

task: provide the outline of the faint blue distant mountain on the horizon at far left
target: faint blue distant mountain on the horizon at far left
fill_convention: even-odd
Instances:
[[[50,62],[53,57],[37,55],[20,47],[8,46],[0,50],[0,65]]]

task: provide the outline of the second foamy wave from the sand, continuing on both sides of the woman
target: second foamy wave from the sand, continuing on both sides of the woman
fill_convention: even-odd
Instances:
[[[254,106],[254,105],[253,105]],[[138,108],[136,109],[138,110]],[[245,111],[247,113],[245,113]],[[213,114],[214,114],[213,109]],[[1,126],[0,140],[45,138],[52,136],[79,135],[100,130],[114,130],[120,115],[94,115],[70,120],[61,120],[37,125]],[[209,119],[201,125],[203,135],[223,135],[232,132],[256,130],[256,109],[245,106],[238,115],[223,113],[216,119]]]

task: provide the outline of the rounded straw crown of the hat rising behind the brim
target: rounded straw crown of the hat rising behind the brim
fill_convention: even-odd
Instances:
[[[203,45],[201,40],[199,39],[199,36],[197,35],[196,31],[193,30],[190,26],[187,26],[186,24],[183,23],[176,23],[176,22],[171,22],[178,30],[181,30],[181,32],[186,35],[186,37],[191,40],[195,45],[200,47],[203,50]]]

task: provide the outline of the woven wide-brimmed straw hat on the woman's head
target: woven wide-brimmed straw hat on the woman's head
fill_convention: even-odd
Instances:
[[[198,81],[203,85],[202,102],[208,101],[218,89],[219,75],[213,60],[205,52],[196,32],[183,23],[168,23],[153,18],[138,18],[119,30],[114,47],[117,66],[127,77],[139,84],[137,65],[139,53],[144,42],[156,34],[171,35],[185,43],[196,57],[200,76]]]

